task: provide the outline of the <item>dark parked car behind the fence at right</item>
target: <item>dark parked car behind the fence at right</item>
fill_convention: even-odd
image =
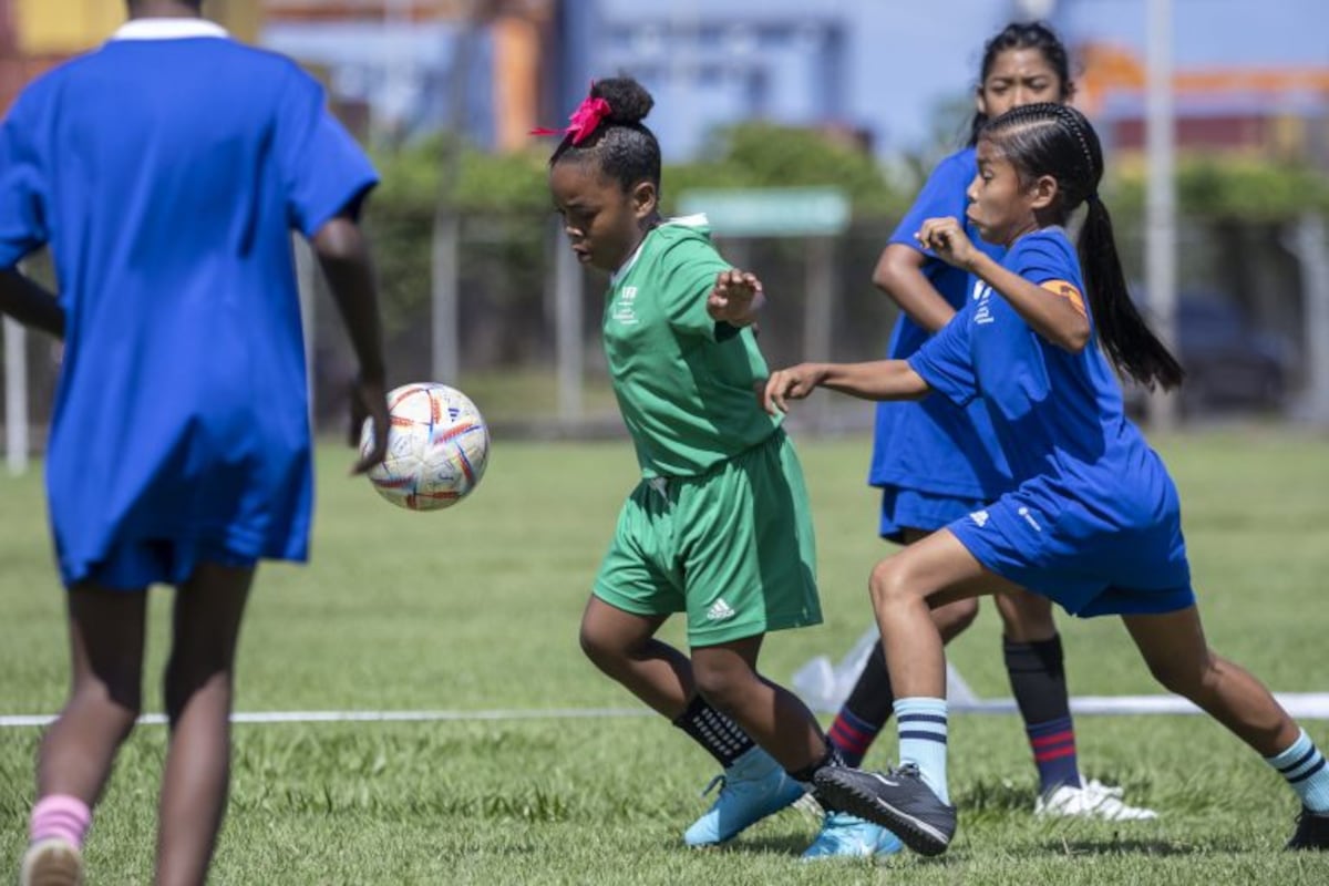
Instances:
[[[1185,369],[1183,414],[1278,412],[1286,405],[1292,344],[1256,329],[1231,300],[1207,294],[1180,295],[1176,355]],[[1128,380],[1123,389],[1127,409],[1143,413],[1148,392]]]

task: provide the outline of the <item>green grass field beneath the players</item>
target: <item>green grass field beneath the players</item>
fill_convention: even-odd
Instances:
[[[820,546],[824,626],[773,635],[764,671],[837,658],[869,623],[865,578],[889,549],[863,485],[867,440],[800,444]],[[1280,691],[1329,689],[1329,440],[1227,430],[1160,441],[1185,509],[1213,646]],[[950,853],[804,865],[816,822],[789,810],[716,851],[683,828],[714,764],[598,676],[577,622],[630,446],[498,440],[474,498],[409,514],[320,452],[314,562],[260,571],[242,639],[241,711],[618,708],[603,719],[238,725],[214,883],[1329,883],[1329,857],[1281,851],[1296,802],[1203,717],[1080,717],[1082,768],[1158,809],[1156,822],[1035,821],[1014,716],[952,723]],[[40,478],[0,480],[0,715],[49,713],[66,680],[61,592]],[[155,592],[149,673],[170,598]],[[1061,619],[1073,692],[1156,688],[1114,619]],[[678,639],[674,626],[667,636]],[[952,660],[1006,696],[985,606]],[[152,701],[149,703],[153,704]],[[1329,723],[1308,723],[1329,747]],[[23,849],[40,731],[0,728],[0,878]],[[88,846],[89,882],[150,882],[165,731],[126,745]],[[885,765],[893,731],[869,765]]]

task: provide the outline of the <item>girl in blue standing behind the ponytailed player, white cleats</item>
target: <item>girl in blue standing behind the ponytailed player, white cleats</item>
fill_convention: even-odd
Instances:
[[[1069,102],[1074,93],[1066,46],[1046,25],[1010,24],[985,44],[969,145],[933,170],[872,275],[872,282],[901,311],[888,357],[912,356],[969,298],[969,274],[944,262],[918,243],[914,234],[928,218],[964,217],[965,190],[977,170],[978,130],[1011,108],[1041,101]],[[1005,252],[1001,246],[978,239],[968,223],[965,228],[970,242],[987,255],[999,259]],[[904,545],[977,510],[1010,485],[1006,460],[982,405],[957,406],[945,397],[877,405],[868,481],[881,487],[881,537]],[[1051,603],[1031,594],[998,594],[997,610],[1002,616],[1002,658],[1038,769],[1035,812],[1115,821],[1154,818],[1151,810],[1122,802],[1119,789],[1104,788],[1096,780],[1082,784],[1062,642]],[[933,610],[944,642],[961,634],[977,615],[977,599]],[[848,764],[863,761],[890,717],[893,703],[885,654],[878,644],[828,733]],[[863,855],[873,850],[881,854],[890,846],[898,843],[876,825],[841,813],[827,816],[807,854]]]

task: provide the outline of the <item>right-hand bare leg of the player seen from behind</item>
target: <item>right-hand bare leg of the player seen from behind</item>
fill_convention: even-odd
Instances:
[[[235,646],[254,570],[203,563],[175,595],[170,745],[157,837],[158,886],[202,883],[226,812]]]

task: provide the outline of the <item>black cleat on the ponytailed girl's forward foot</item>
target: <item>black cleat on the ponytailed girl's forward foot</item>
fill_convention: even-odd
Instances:
[[[827,804],[881,825],[921,855],[946,851],[956,834],[956,808],[924,784],[912,762],[886,773],[823,766],[815,782],[816,794]]]

